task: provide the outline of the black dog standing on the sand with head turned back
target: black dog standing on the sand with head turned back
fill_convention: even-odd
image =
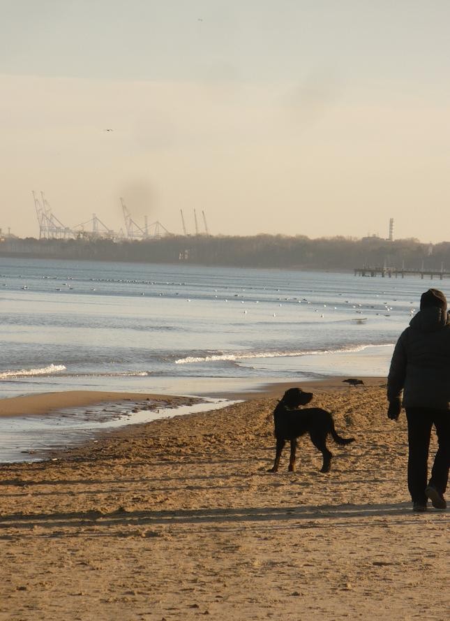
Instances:
[[[273,467],[268,472],[278,472],[281,451],[290,440],[291,455],[289,470],[295,470],[295,451],[297,438],[309,433],[314,446],[322,453],[324,462],[320,472],[329,472],[333,455],[327,448],[327,436],[331,435],[337,444],[350,444],[354,438],[342,438],[336,433],[333,416],[330,412],[320,407],[306,407],[299,409],[299,405],[306,405],[313,398],[313,393],[304,393],[301,388],[286,390],[283,399],[273,410],[273,422],[275,423],[276,455]]]

